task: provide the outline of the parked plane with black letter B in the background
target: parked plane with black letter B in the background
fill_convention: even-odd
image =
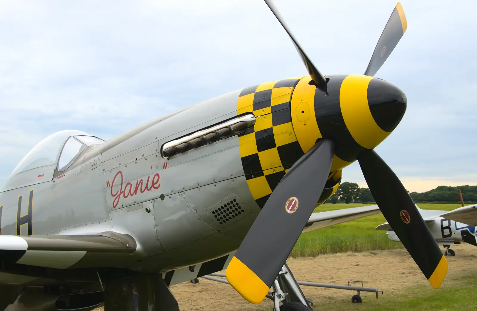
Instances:
[[[461,202],[464,205],[462,197]],[[456,255],[454,250],[450,249],[452,244],[466,242],[477,246],[476,205],[463,206],[452,211],[421,209],[417,205],[416,208],[424,218],[437,244],[443,245],[446,248],[446,256]],[[393,228],[387,222],[377,226],[376,230],[387,230],[386,235],[388,238],[396,242],[400,241]]]

